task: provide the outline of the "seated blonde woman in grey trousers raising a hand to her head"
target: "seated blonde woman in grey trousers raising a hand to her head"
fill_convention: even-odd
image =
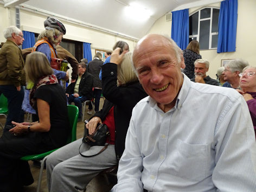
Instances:
[[[90,148],[82,143],[81,138],[50,154],[46,161],[49,191],[85,189],[89,181],[102,170],[118,164],[124,151],[132,108],[147,96],[133,71],[131,54],[123,52],[119,55],[119,51],[120,48],[114,50],[110,63],[102,68],[103,95],[106,98],[103,109],[95,113],[86,124],[89,134],[95,130],[98,123],[108,126],[108,147],[96,156],[82,157],[79,154],[81,144],[82,155],[95,155],[103,146]]]

